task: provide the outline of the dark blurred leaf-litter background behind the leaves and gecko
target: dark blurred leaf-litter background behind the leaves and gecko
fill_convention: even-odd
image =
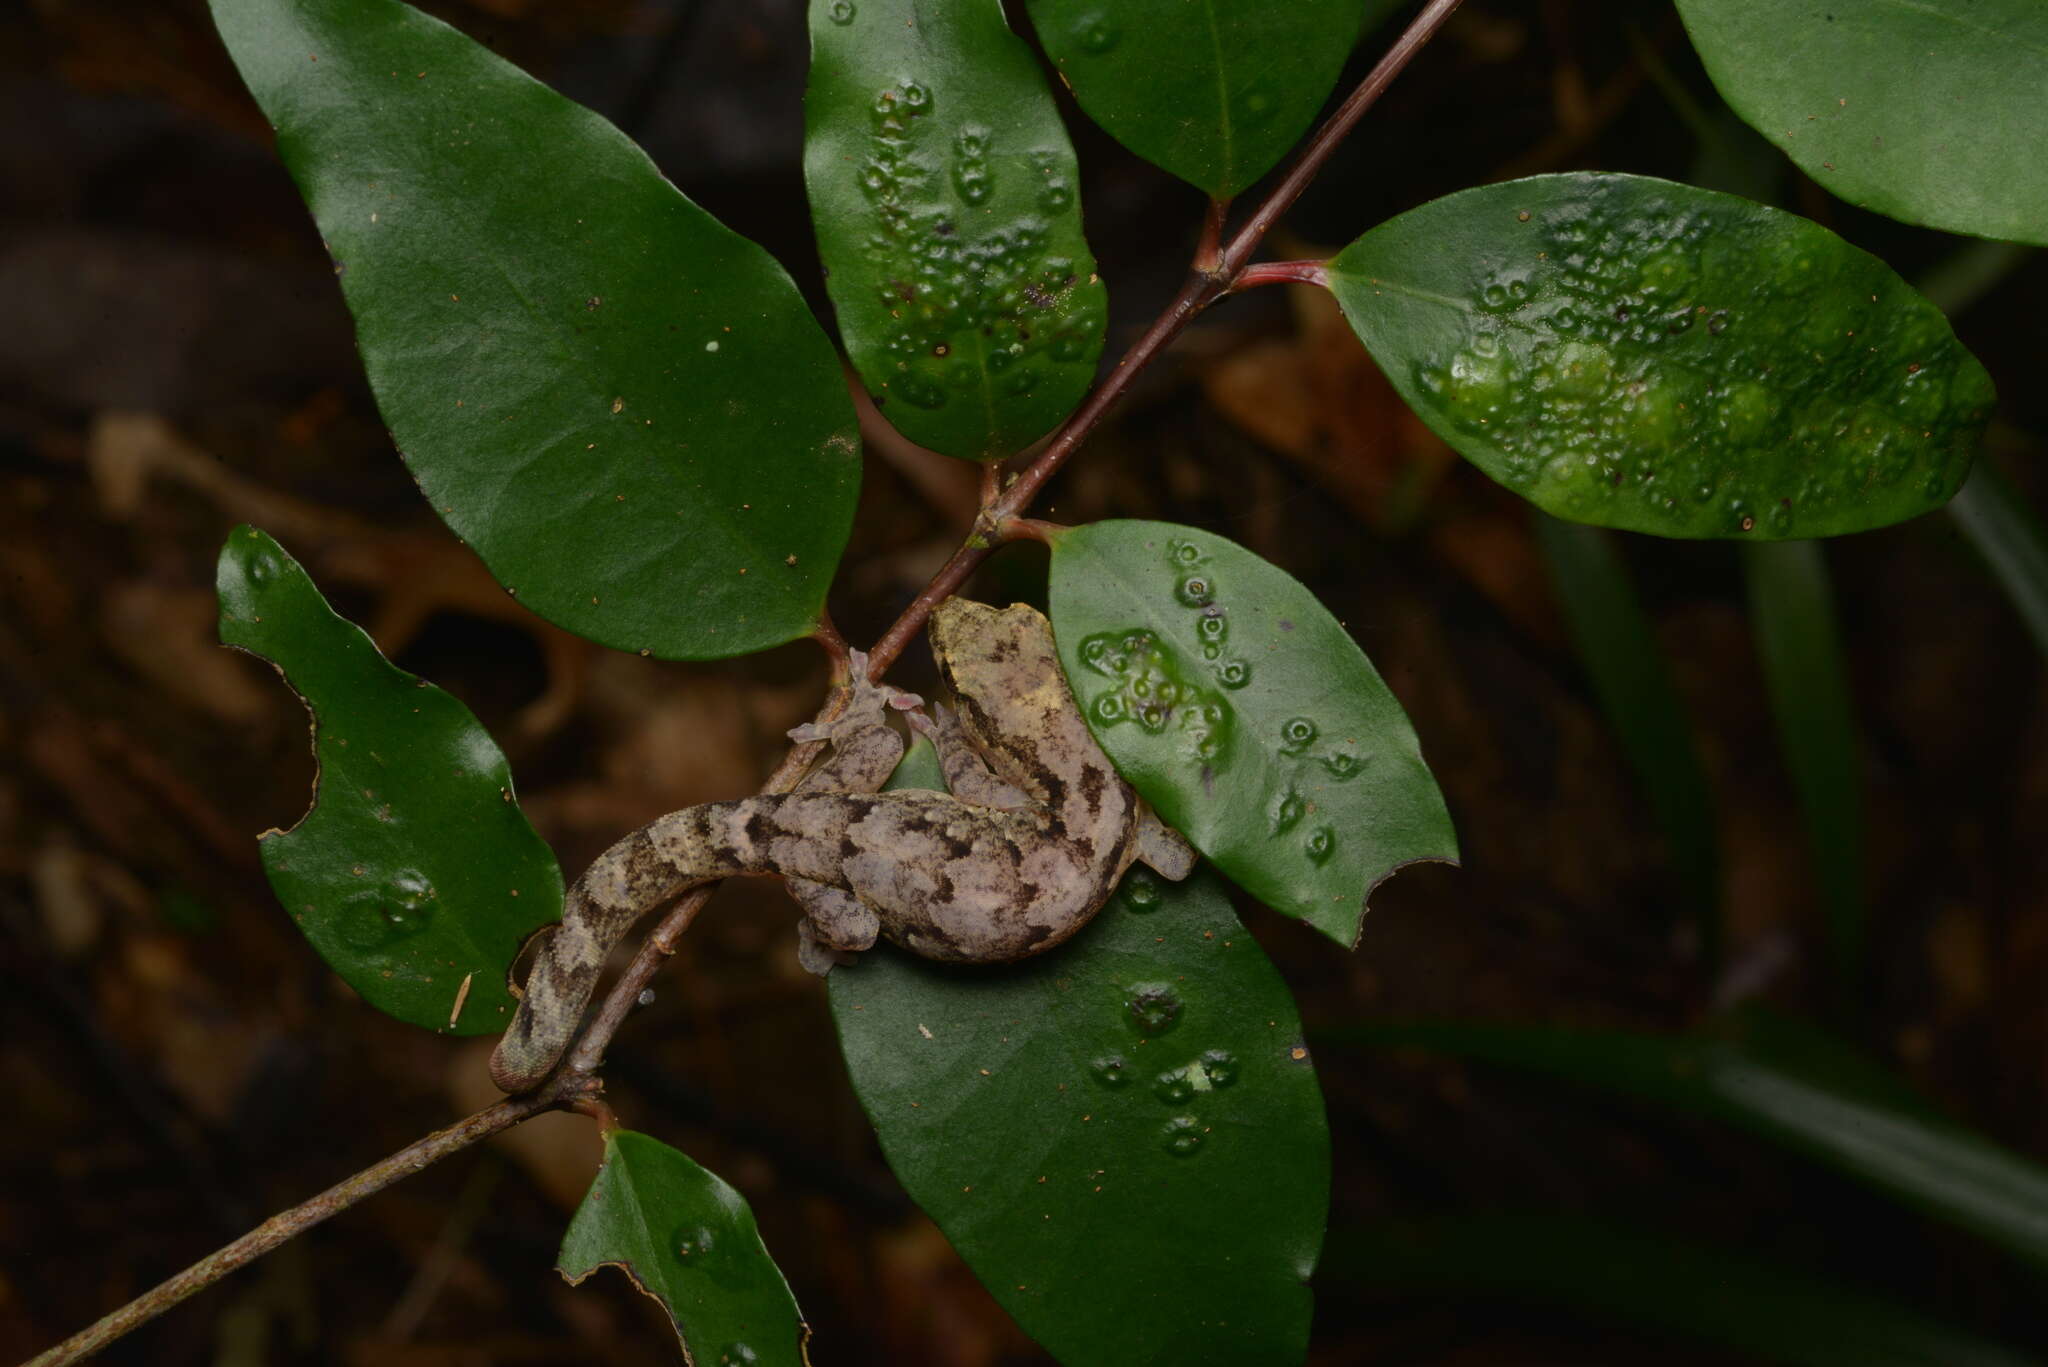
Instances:
[[[623,123],[811,293],[799,0],[430,4]],[[1378,51],[1368,43],[1364,55]],[[1354,64],[1356,66],[1356,64]],[[1354,70],[1356,76],[1356,70]],[[1466,184],[1686,178],[1718,109],[1667,6],[1470,0],[1288,215],[1325,254]],[[1069,109],[1114,357],[1180,283],[1200,197]],[[1778,162],[1767,162],[1780,166]],[[1913,279],[1962,242],[1772,193]],[[2034,496],[2048,266],[1958,320]],[[973,471],[868,443],[834,613],[872,639],[958,541]],[[1219,307],[1042,500],[1212,527],[1305,578],[1407,705],[1462,869],[1374,900],[1364,943],[1253,912],[1311,1031],[1460,1017],[1679,1029],[1823,1017],[1819,898],[1726,545],[1626,539],[1700,726],[1724,859],[1712,971],[1591,699],[1526,508],[1405,414],[1325,301]],[[254,834],[305,805],[299,705],[213,644],[213,560],[254,521],[506,746],[567,871],[659,812],[752,791],[809,717],[809,646],[659,664],[512,607],[389,449],[348,316],[197,0],[0,8],[0,1357],[27,1357],[260,1215],[489,1099],[483,1043],[367,1010],[299,941]],[[1944,516],[1835,541],[1870,822],[1874,971],[1849,1033],[1954,1115],[2048,1156],[2048,709],[2040,656]],[[1006,551],[981,592],[1030,592]],[[928,687],[911,658],[903,687]],[[621,1035],[612,1099],[733,1180],[819,1361],[1042,1361],[901,1195],[846,1084],[780,889],[729,889]],[[1776,1252],[2048,1349],[2040,1285],[1976,1240],[1704,1123],[1432,1055],[1323,1049],[1333,1232],[1540,1209]],[[555,1117],[324,1226],[109,1363],[672,1363],[606,1275],[547,1271],[596,1158]],[[1542,1238],[1530,1258],[1550,1256]],[[1333,1273],[1319,1363],[1720,1363],[1487,1295]]]

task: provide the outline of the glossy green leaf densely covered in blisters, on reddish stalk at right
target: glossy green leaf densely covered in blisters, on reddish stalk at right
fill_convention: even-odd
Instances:
[[[1806,219],[1665,180],[1462,191],[1329,262],[1444,441],[1536,506],[1663,537],[1827,537],[1939,506],[1993,404],[1948,320]]]

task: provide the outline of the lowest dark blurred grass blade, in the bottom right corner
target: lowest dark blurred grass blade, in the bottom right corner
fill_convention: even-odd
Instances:
[[[1733,1248],[1556,1215],[1335,1234],[1317,1279],[1622,1320],[1786,1367],[2023,1367],[2036,1359],[1892,1299]]]

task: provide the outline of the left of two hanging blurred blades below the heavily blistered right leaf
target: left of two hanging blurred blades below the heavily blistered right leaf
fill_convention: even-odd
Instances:
[[[1563,523],[1542,510],[1536,512],[1536,543],[1550,564],[1565,621],[1608,723],[1671,840],[1671,861],[1712,963],[1720,883],[1714,799],[1700,769],[1692,721],[1671,689],[1628,566],[1606,531]]]

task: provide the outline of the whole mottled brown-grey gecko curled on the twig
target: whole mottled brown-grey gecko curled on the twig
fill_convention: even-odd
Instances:
[[[553,1070],[612,945],[698,883],[784,875],[805,910],[799,953],[825,971],[877,935],[928,959],[1024,959],[1087,924],[1133,861],[1188,875],[1194,853],[1087,734],[1042,615],[950,598],[932,615],[932,650],[958,713],[911,713],[911,726],[932,736],[952,791],[874,791],[903,752],[885,709],[913,699],[856,670],[838,721],[791,732],[831,742],[797,791],[670,812],[575,881],[492,1055],[498,1086],[520,1092]]]

